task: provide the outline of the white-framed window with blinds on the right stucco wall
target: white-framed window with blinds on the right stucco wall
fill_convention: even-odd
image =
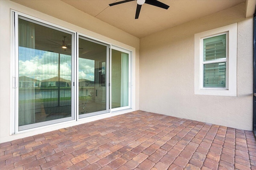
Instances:
[[[236,96],[237,23],[194,38],[195,94]]]

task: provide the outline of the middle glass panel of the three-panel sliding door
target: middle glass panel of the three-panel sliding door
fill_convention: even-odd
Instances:
[[[109,47],[106,44],[79,37],[78,112],[79,118],[107,113]]]

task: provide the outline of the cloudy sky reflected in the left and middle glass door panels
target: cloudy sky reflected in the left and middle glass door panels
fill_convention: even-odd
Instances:
[[[46,80],[58,76],[58,53],[19,47],[19,77]],[[79,59],[80,63],[80,59]],[[71,80],[71,56],[60,54],[60,77]],[[79,78],[94,81],[94,61],[82,59]]]

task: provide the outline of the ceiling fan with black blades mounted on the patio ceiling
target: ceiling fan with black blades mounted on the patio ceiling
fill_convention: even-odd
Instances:
[[[123,0],[123,1],[120,1],[120,2],[115,2],[115,3],[109,4],[109,6],[118,5],[118,4],[122,4],[122,3],[125,3],[125,2],[130,2],[130,1],[134,1],[134,0]],[[136,9],[136,14],[135,14],[135,19],[139,18],[140,9],[141,9],[141,6],[144,3],[150,4],[150,5],[153,5],[153,6],[157,6],[157,7],[160,7],[160,8],[164,8],[166,10],[170,7],[170,6],[168,6],[168,5],[166,5],[162,2],[159,2],[158,0],[136,0],[136,1],[137,1],[137,9]]]

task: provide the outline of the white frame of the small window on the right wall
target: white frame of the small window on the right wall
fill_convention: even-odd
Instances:
[[[203,88],[203,40],[226,33],[226,88]],[[219,63],[220,61],[218,61]],[[194,94],[237,96],[237,23],[194,35]]]

